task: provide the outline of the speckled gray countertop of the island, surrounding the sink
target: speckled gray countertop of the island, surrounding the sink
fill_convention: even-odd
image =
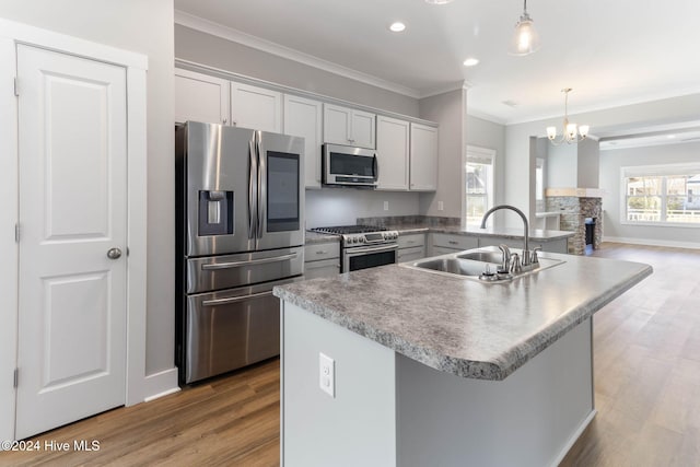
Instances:
[[[564,262],[488,284],[399,265],[275,288],[275,295],[433,369],[503,380],[651,275],[648,265]]]

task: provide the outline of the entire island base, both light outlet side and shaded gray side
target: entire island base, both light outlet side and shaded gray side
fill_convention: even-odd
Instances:
[[[289,302],[281,319],[287,467],[557,466],[595,415],[592,318],[503,381],[431,369]]]

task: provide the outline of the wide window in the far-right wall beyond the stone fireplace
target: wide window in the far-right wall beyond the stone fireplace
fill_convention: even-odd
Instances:
[[[622,167],[622,189],[623,223],[700,226],[700,165]]]

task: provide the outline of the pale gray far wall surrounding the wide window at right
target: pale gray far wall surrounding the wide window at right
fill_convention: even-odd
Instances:
[[[623,202],[621,199],[622,194],[620,192],[620,167],[697,163],[698,161],[700,161],[700,142],[600,151],[600,188],[604,190],[604,240],[700,247],[699,229],[622,225],[620,223],[620,205]]]

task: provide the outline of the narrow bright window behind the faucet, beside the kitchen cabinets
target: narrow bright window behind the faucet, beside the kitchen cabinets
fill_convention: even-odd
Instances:
[[[493,162],[492,149],[467,147],[465,165],[465,212],[467,225],[480,225],[481,218],[493,207]]]

